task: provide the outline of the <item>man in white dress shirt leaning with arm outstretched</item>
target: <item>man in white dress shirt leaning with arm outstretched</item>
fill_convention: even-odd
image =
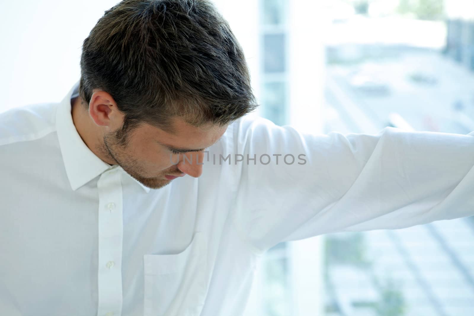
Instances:
[[[247,113],[206,0],[124,0],[59,104],[0,115],[0,315],[241,315],[273,245],[474,215],[474,137]]]

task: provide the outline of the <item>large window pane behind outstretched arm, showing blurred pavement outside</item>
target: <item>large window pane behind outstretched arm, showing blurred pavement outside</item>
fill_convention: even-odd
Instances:
[[[473,131],[473,14],[440,18],[442,0],[365,2],[364,14],[345,4],[329,17],[325,132]],[[325,246],[325,316],[473,315],[474,217],[330,234]]]

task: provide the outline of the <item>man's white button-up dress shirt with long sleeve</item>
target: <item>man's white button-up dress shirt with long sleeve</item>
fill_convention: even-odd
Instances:
[[[238,316],[279,242],[474,215],[474,132],[244,117],[150,190],[83,143],[74,95],[0,114],[0,315]]]

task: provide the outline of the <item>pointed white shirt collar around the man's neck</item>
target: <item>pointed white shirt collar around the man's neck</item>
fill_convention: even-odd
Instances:
[[[111,166],[102,161],[82,141],[74,126],[71,114],[71,98],[76,97],[78,91],[79,81],[67,93],[56,111],[56,131],[59,146],[63,155],[67,178],[74,191],[109,169],[118,168],[123,171],[122,167],[118,165]],[[125,173],[138,183],[146,193],[150,191],[150,188],[132,178],[127,172]]]

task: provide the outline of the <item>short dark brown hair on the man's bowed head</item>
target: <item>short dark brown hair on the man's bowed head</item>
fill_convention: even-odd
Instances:
[[[207,0],[124,0],[105,11],[82,45],[80,95],[108,92],[140,123],[173,132],[170,118],[227,125],[257,104],[242,48]]]

